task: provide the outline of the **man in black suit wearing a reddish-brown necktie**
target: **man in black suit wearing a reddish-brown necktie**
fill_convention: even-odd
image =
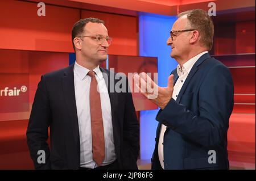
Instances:
[[[111,91],[120,79],[99,66],[111,43],[104,22],[79,20],[72,43],[75,64],[43,75],[35,94],[27,128],[35,168],[138,169],[139,125],[127,79],[120,77],[126,92]]]

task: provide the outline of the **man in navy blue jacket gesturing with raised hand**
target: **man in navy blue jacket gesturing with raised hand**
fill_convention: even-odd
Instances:
[[[178,17],[167,45],[179,65],[171,72],[167,87],[152,83],[158,96],[150,100],[160,107],[152,169],[229,169],[232,75],[208,53],[213,44],[213,22],[207,12],[191,10]],[[139,87],[151,85],[145,74],[134,78],[140,80]]]

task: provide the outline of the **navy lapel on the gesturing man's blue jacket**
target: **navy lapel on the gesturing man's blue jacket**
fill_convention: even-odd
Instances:
[[[191,71],[188,74],[188,77],[186,78],[184,85],[181,87],[181,90],[179,92],[179,95],[176,99],[176,102],[179,103],[180,99],[181,99],[181,95],[184,94],[184,91],[186,90],[189,82],[191,81],[191,78],[193,77],[193,75],[196,73],[196,71],[198,70],[198,66],[203,63],[207,58],[210,58],[210,54],[209,53],[205,53],[203,54],[203,56],[201,56],[199,58],[199,60],[196,61],[196,63],[193,65]]]

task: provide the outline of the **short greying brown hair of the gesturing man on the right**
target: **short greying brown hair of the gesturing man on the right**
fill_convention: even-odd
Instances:
[[[212,49],[214,26],[210,16],[201,9],[189,10],[181,12],[178,17],[187,15],[189,25],[191,28],[199,31],[200,43],[202,43],[208,50]]]

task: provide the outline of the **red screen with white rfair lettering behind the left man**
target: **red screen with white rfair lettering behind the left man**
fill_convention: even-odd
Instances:
[[[67,67],[68,56],[0,49],[0,121],[27,120],[41,75]]]

